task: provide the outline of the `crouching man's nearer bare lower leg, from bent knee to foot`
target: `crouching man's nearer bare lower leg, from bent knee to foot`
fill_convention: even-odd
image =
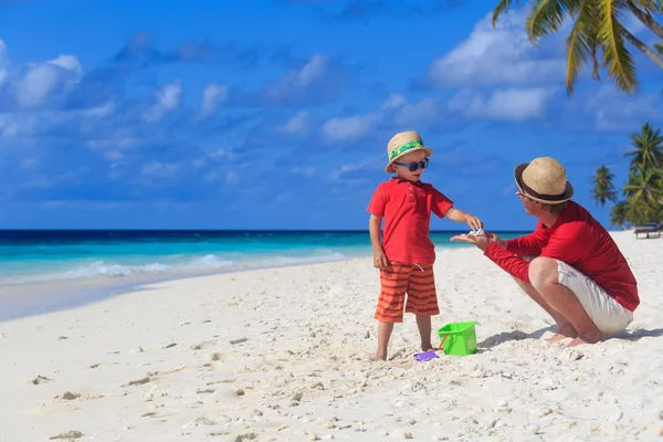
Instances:
[[[577,336],[568,344],[568,347],[596,344],[603,339],[601,332],[591,320],[576,294],[559,284],[557,261],[550,257],[533,260],[529,264],[529,280],[541,298],[576,330]]]

